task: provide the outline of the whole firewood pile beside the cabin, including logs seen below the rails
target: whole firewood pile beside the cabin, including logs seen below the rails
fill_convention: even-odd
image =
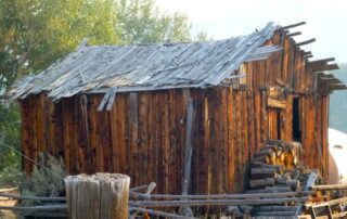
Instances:
[[[271,140],[260,151],[254,153],[249,170],[249,190],[246,193],[284,193],[303,191],[298,167],[300,145],[282,140]],[[253,216],[256,218],[293,217],[297,206],[272,205],[257,206]],[[282,218],[281,217],[281,218]]]

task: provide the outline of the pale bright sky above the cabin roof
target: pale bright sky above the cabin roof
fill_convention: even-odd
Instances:
[[[347,63],[347,1],[345,0],[156,0],[159,9],[188,15],[193,33],[205,31],[213,39],[247,35],[268,22],[281,26],[306,22],[291,29],[301,31],[297,42],[316,38],[303,46],[319,60],[335,57]]]

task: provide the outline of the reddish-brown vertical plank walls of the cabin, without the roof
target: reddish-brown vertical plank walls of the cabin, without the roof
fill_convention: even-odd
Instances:
[[[293,140],[293,98],[299,99],[301,158],[326,175],[326,96],[316,95],[313,75],[301,52],[284,31],[268,43],[283,51],[244,64],[247,77],[234,86],[190,89],[195,129],[192,163],[193,194],[239,193],[244,190],[247,164],[267,139]],[[281,81],[293,92],[285,107],[268,105],[269,88]],[[246,83],[243,89],[237,83]],[[52,103],[44,94],[21,101],[22,150],[64,157],[69,173],[126,173],[131,186],[154,181],[155,192],[181,192],[187,98],[184,90],[117,93],[110,112],[98,112],[102,94],[75,95]],[[26,171],[33,164],[24,162]]]

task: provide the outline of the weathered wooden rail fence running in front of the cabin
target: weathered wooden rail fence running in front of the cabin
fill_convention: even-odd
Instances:
[[[306,192],[281,192],[281,193],[257,193],[257,194],[210,194],[210,195],[170,195],[170,194],[151,194],[155,183],[149,185],[140,185],[129,190],[128,214],[129,218],[134,218],[139,214],[147,214],[152,216],[167,218],[194,218],[181,216],[172,212],[165,212],[158,209],[179,206],[252,206],[254,211],[267,208],[267,205],[301,205],[304,208],[303,215],[298,218],[314,218],[314,209],[326,207],[326,211],[320,212],[330,214],[333,218],[343,218],[347,215],[347,209],[336,206],[343,206],[347,203],[347,197],[336,197],[334,199],[324,201],[323,197],[319,201],[317,194],[323,192],[342,192],[347,190],[347,184],[344,185],[312,185],[310,191]],[[320,191],[320,192],[317,192]],[[67,217],[66,197],[38,197],[38,196],[21,196],[13,194],[0,193],[0,197],[13,199],[33,199],[40,201],[40,206],[0,206],[1,209],[15,210],[23,212],[24,216],[35,217]],[[316,203],[314,203],[316,202]],[[48,204],[49,203],[49,204]],[[278,207],[277,209],[280,209]],[[286,206],[287,208],[287,206]],[[268,209],[268,208],[267,208]],[[272,209],[272,208],[271,208]],[[282,209],[282,208],[281,208]],[[280,210],[281,210],[280,209]],[[311,212],[311,214],[309,214]],[[230,212],[229,212],[230,214]],[[306,215],[305,215],[306,214]]]

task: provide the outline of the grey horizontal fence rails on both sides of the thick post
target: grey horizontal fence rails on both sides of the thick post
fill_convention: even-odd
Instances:
[[[297,203],[303,204],[317,190],[347,190],[347,185],[314,185],[311,191],[304,192],[283,192],[283,193],[257,193],[257,194],[210,194],[210,195],[171,195],[171,194],[151,194],[153,183],[149,185],[140,185],[131,188],[129,192],[129,215],[134,218],[140,212],[149,215],[168,217],[168,218],[184,218],[183,216],[164,212],[157,207],[178,207],[178,206],[241,206],[241,205],[268,205],[279,203]],[[9,190],[10,191],[10,190]],[[33,199],[49,202],[47,205],[38,206],[0,206],[0,210],[21,211],[25,216],[34,217],[66,217],[67,204],[66,197],[42,197],[5,194],[8,192],[0,190],[0,197],[11,199]],[[185,198],[185,199],[181,199]],[[347,197],[344,197],[345,203]],[[335,201],[331,201],[335,202]],[[347,201],[346,201],[347,202]],[[305,206],[305,205],[304,205]],[[307,205],[308,206],[308,205]],[[151,209],[156,208],[156,209]],[[345,212],[344,212],[345,214]],[[133,217],[132,217],[133,216]]]

